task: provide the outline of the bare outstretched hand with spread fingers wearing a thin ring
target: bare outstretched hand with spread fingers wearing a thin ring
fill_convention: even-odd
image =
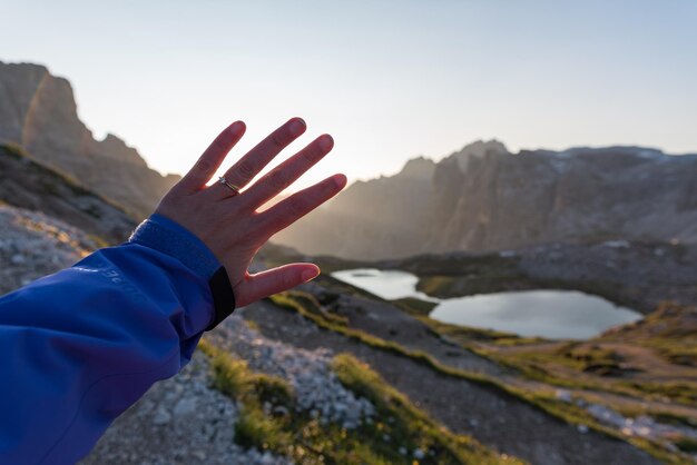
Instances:
[[[320,274],[314,264],[291,264],[256,275],[251,275],[247,268],[274,234],[334,197],[346,185],[344,175],[334,175],[267,210],[257,211],[332,150],[334,140],[323,135],[240,194],[219,182],[207,187],[245,129],[244,122],[236,121],[220,132],[155,210],[184,226],[208,246],[225,266],[239,307],[306,283]],[[305,129],[301,118],[292,118],[242,157],[225,172],[225,178],[244,188]]]

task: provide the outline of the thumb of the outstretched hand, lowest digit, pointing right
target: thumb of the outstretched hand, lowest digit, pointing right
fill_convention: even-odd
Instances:
[[[247,276],[235,288],[235,305],[244,307],[273,294],[283,293],[316,278],[320,268],[314,264],[291,264]]]

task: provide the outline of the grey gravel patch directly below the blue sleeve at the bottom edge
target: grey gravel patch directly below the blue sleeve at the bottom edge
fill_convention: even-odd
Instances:
[[[208,357],[196,353],[184,370],[121,415],[81,464],[291,463],[235,444],[238,406],[208,387]]]

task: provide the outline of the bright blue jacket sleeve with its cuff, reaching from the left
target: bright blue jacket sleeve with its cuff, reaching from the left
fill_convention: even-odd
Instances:
[[[70,464],[214,318],[219,263],[154,215],[121,246],[0,298],[0,463]]]

